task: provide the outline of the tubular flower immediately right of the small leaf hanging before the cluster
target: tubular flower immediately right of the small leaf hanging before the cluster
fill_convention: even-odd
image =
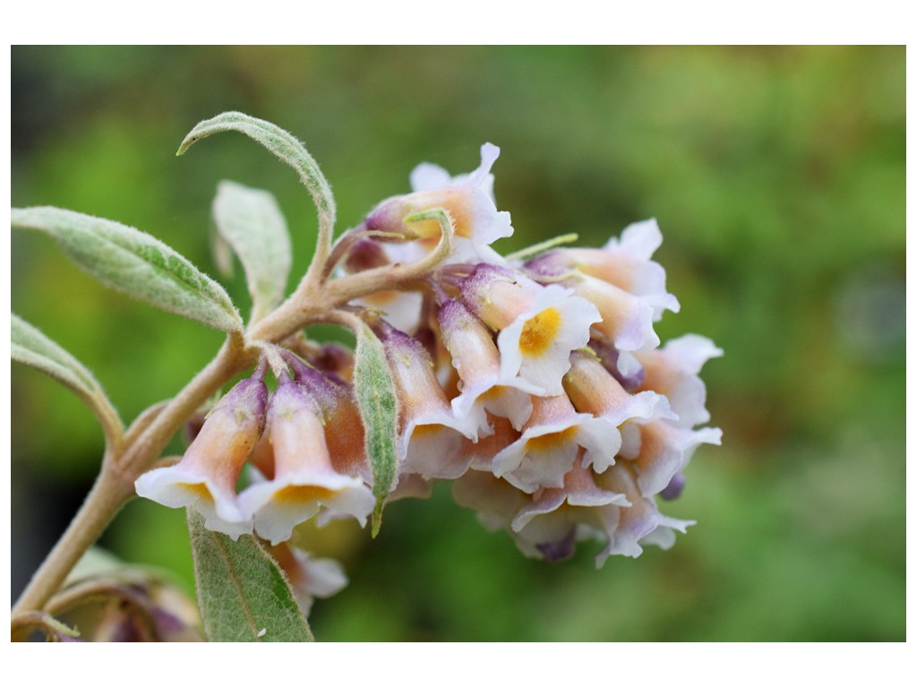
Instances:
[[[398,393],[401,470],[427,479],[457,478],[470,463],[461,449],[466,439],[477,440],[478,428],[453,415],[420,342],[392,327],[381,334]]]

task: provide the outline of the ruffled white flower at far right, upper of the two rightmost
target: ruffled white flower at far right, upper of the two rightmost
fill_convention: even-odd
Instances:
[[[722,355],[722,349],[700,335],[669,339],[660,350],[636,354],[644,369],[639,389],[666,395],[672,411],[678,416],[672,420],[673,425],[694,427],[706,423],[710,420],[706,408],[707,388],[698,373],[704,363]]]

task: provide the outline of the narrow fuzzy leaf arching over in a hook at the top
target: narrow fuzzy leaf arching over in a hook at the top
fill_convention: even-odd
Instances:
[[[330,250],[331,233],[335,224],[335,200],[325,175],[318,169],[318,163],[305,150],[305,146],[290,132],[263,119],[249,117],[241,112],[224,112],[216,117],[199,122],[182,141],[176,155],[184,154],[193,143],[206,139],[221,131],[238,131],[258,141],[264,148],[290,165],[299,173],[300,180],[312,194],[318,210],[318,241],[323,252]]]

